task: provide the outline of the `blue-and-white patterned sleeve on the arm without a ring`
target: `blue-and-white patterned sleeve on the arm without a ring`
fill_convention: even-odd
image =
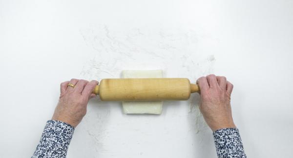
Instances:
[[[224,128],[213,132],[218,158],[247,158],[237,128]]]

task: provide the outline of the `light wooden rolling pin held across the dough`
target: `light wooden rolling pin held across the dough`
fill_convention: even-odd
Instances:
[[[199,92],[187,78],[124,78],[102,79],[93,90],[102,101],[188,100]]]

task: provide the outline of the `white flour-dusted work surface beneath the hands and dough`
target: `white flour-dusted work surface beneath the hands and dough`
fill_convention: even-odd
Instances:
[[[225,75],[250,158],[293,157],[292,0],[0,0],[0,157],[30,157],[59,84],[164,70]],[[90,101],[68,158],[216,158],[198,96],[163,114]]]

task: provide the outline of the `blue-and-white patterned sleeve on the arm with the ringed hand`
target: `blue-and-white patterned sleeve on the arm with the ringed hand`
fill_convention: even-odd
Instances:
[[[73,126],[49,120],[32,158],[65,158],[73,132]]]

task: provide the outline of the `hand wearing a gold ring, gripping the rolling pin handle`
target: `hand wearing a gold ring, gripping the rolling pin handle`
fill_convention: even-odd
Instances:
[[[68,84],[75,85],[74,88]],[[55,108],[52,120],[62,121],[76,127],[86,113],[86,106],[90,98],[96,95],[92,93],[98,85],[98,81],[85,81],[71,79],[61,83],[60,99]]]

